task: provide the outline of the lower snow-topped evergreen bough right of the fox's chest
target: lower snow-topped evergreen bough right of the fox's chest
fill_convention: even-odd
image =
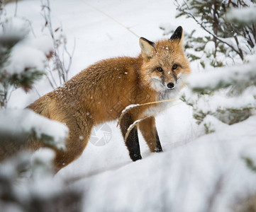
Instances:
[[[250,117],[256,108],[256,101],[252,94],[230,97],[224,90],[211,95],[201,95],[191,90],[184,90],[182,100],[193,107],[193,116],[197,124],[205,124],[208,115],[216,117],[223,123],[235,124]]]

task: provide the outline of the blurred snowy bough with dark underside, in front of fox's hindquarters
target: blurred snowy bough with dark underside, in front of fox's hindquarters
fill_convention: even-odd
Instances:
[[[26,148],[28,139],[39,139],[45,144],[65,150],[68,129],[60,122],[42,117],[31,110],[18,109],[0,110],[0,119],[0,151],[6,153],[0,154],[0,160],[5,155]]]

